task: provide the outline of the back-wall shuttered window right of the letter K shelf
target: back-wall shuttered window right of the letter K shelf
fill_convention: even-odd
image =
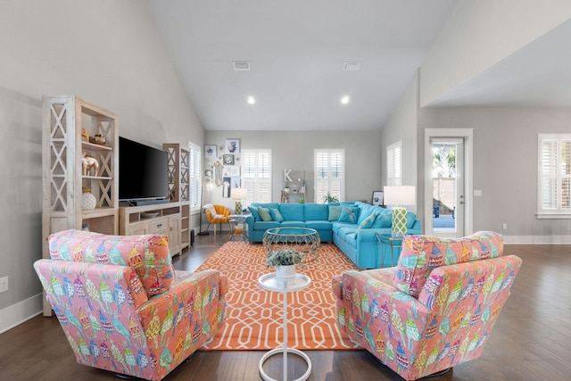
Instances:
[[[315,150],[315,202],[323,203],[327,194],[345,199],[345,150]]]

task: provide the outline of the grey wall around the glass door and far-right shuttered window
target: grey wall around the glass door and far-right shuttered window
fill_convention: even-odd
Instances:
[[[474,231],[493,230],[507,242],[571,243],[571,219],[536,219],[537,135],[568,133],[571,110],[425,108],[424,128],[474,128]],[[503,223],[508,229],[503,230]]]

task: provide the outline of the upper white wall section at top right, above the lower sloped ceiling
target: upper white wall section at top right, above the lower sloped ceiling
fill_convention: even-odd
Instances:
[[[570,17],[568,0],[461,0],[422,63],[420,106]]]

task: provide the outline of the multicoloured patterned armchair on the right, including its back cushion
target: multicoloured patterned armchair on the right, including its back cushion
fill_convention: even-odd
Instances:
[[[337,323],[407,380],[474,360],[521,265],[502,252],[492,232],[405,236],[396,267],[333,278]]]

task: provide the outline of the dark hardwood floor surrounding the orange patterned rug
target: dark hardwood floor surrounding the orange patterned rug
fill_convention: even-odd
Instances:
[[[176,269],[194,270],[228,240],[228,234],[197,236],[194,246],[176,257]],[[506,245],[524,264],[512,294],[486,343],[483,355],[434,380],[571,379],[571,245]],[[401,380],[366,351],[308,351],[310,380]],[[264,352],[195,352],[166,380],[260,380]],[[269,372],[280,366],[269,362]],[[294,377],[305,371],[291,359]],[[270,373],[280,377],[279,373]],[[0,335],[2,380],[117,380],[112,374],[75,362],[62,329],[53,318],[37,316]]]

